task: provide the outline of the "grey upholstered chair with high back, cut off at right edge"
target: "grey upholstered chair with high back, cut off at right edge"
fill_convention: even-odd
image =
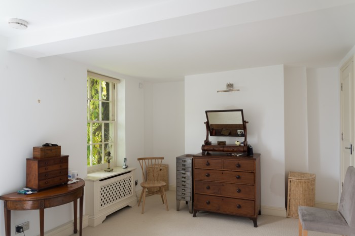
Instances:
[[[355,236],[355,168],[348,167],[339,210],[316,207],[298,207],[299,235],[307,236],[308,230]]]

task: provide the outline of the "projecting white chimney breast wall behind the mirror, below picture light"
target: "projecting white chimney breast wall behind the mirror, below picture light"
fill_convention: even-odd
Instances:
[[[217,93],[233,83],[240,92]],[[185,149],[201,152],[205,110],[243,109],[248,144],[261,153],[261,204],[285,208],[283,66],[185,76]],[[216,142],[221,137],[211,137]],[[234,143],[235,137],[224,138]]]

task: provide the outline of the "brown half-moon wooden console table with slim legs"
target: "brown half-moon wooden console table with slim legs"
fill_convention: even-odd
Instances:
[[[4,218],[6,236],[11,236],[11,210],[40,210],[40,235],[44,235],[44,209],[60,206],[66,203],[74,203],[74,233],[77,228],[77,209],[79,201],[79,229],[82,235],[83,228],[83,200],[85,181],[78,178],[78,182],[62,184],[32,194],[21,194],[17,192],[0,196],[4,201]]]

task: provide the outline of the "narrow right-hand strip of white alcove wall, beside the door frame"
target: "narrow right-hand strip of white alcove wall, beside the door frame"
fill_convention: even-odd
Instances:
[[[337,67],[307,69],[309,172],[317,202],[338,203],[340,86]]]

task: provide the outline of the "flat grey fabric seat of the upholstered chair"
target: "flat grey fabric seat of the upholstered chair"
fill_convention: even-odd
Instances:
[[[298,215],[304,230],[350,234],[350,227],[338,211],[315,208],[298,207]]]

